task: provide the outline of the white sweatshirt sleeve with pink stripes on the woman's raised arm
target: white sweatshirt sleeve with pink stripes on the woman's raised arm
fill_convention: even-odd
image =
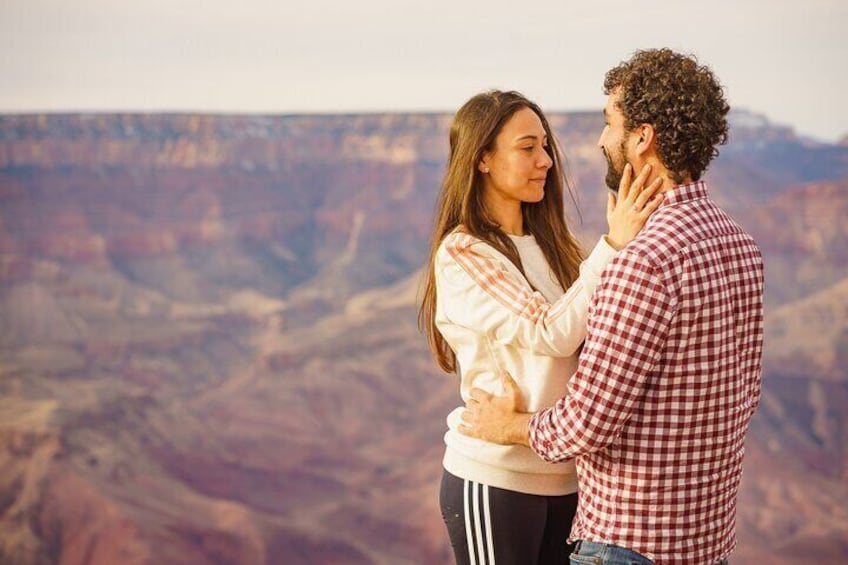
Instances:
[[[542,355],[573,355],[586,337],[589,300],[615,250],[599,241],[580,275],[554,303],[534,291],[506,258],[467,234],[449,235],[437,260],[436,285],[444,317],[496,343]]]

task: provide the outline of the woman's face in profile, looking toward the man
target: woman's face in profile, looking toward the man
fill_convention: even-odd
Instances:
[[[539,202],[553,160],[542,121],[530,108],[518,110],[501,128],[495,147],[483,155],[483,194],[492,203]]]

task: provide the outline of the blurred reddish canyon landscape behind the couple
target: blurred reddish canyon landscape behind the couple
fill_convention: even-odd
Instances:
[[[551,121],[588,246],[602,117]],[[449,122],[0,116],[0,563],[450,563],[416,327]],[[767,277],[733,563],[844,563],[848,139],[735,112],[707,180]]]

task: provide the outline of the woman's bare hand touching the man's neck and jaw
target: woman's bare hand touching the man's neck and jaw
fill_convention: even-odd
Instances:
[[[633,167],[630,163],[624,166],[621,182],[618,185],[618,197],[612,192],[607,201],[607,224],[609,234],[607,241],[615,249],[624,249],[630,240],[636,237],[648,217],[662,203],[663,195],[657,190],[662,186],[662,178],[657,177],[645,186],[645,181],[651,174],[651,165],[645,165],[639,171],[639,176],[633,178]]]

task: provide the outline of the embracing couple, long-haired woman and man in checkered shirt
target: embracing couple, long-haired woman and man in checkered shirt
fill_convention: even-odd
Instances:
[[[763,265],[701,178],[729,107],[668,49],[604,89],[609,231],[588,255],[537,105],[487,92],[451,126],[419,321],[465,403],[440,492],[460,565],[713,565],[736,543]]]

